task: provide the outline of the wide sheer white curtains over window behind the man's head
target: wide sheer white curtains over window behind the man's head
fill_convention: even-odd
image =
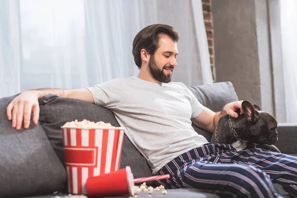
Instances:
[[[173,81],[212,83],[200,0],[0,0],[0,98],[137,76],[132,42],[154,23],[180,34]]]

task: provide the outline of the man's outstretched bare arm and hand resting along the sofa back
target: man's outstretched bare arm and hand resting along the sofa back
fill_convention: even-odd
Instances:
[[[27,90],[13,99],[7,106],[6,114],[8,120],[12,120],[12,127],[16,130],[21,129],[24,122],[24,128],[30,125],[31,113],[33,113],[33,123],[37,125],[39,119],[38,99],[48,95],[55,94],[63,98],[81,99],[94,103],[93,95],[88,89],[61,90],[61,89],[37,89]]]

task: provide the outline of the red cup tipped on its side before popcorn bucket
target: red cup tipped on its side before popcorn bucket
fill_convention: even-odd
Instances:
[[[86,186],[88,196],[134,196],[133,174],[129,166],[116,172],[89,177]]]

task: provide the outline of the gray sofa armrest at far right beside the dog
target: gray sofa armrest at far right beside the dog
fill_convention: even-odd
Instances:
[[[297,123],[279,123],[278,141],[275,144],[282,153],[297,154]]]

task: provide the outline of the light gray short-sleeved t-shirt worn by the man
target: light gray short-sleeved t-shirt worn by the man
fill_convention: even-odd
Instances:
[[[191,118],[204,106],[183,83],[152,83],[116,78],[87,88],[95,104],[110,109],[132,144],[146,157],[153,174],[178,155],[207,140]]]

